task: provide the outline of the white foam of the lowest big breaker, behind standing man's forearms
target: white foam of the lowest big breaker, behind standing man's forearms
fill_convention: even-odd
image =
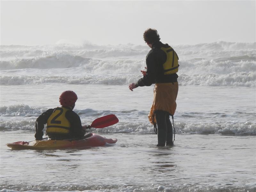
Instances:
[[[45,83],[126,85],[137,81],[140,75],[86,75],[86,76],[1,76],[1,85],[33,85]],[[185,75],[178,78],[180,85],[202,86],[256,86],[256,73],[239,72],[227,75]]]

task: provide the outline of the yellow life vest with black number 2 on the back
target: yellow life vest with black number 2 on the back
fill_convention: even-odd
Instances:
[[[66,113],[70,109],[57,107],[47,120],[46,134],[68,134],[70,132],[70,122],[66,118]]]

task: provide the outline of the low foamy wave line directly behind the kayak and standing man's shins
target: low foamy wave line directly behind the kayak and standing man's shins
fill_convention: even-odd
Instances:
[[[82,124],[89,125],[87,121],[82,120]],[[2,131],[27,130],[34,132],[35,119],[20,121],[2,121],[0,123]],[[116,125],[104,129],[91,128],[88,130],[96,133],[154,133],[153,125],[150,123],[124,123],[119,122]],[[253,123],[228,123],[228,124],[207,124],[207,123],[175,123],[176,134],[243,134],[255,135],[256,124]]]

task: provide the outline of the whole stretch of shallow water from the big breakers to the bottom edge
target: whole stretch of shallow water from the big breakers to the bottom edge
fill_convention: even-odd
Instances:
[[[115,114],[118,124],[90,131],[118,141],[106,147],[48,151],[13,151],[5,144],[34,140],[37,116],[58,106],[58,94],[46,97],[44,90],[60,92],[61,88],[58,84],[30,85],[25,92],[23,85],[6,88],[10,94],[2,86],[1,100],[12,106],[1,116],[3,191],[255,190],[256,129],[251,105],[255,88],[180,86],[175,145],[157,148],[147,118],[153,86],[130,92],[127,86],[72,85],[79,96],[75,111],[82,123]],[[198,92],[203,95],[200,100]],[[211,100],[213,92],[216,102]]]

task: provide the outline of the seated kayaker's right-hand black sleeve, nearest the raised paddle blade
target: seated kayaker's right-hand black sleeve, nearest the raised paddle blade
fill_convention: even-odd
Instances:
[[[77,115],[74,111],[67,111],[66,118],[70,122],[71,125],[71,135],[74,138],[82,138],[84,137],[85,130],[82,127],[81,119],[79,115]]]

